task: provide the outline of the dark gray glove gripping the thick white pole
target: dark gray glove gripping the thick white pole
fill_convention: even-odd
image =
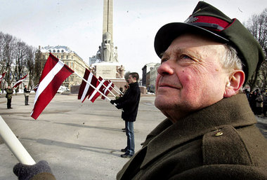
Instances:
[[[41,160],[35,165],[18,163],[13,167],[13,172],[18,176],[18,180],[30,180],[33,176],[41,172],[49,172],[52,174],[51,168],[45,160]]]

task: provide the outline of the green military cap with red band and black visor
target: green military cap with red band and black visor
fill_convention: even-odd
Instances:
[[[204,1],[197,4],[193,14],[185,22],[172,22],[159,29],[154,43],[157,55],[161,57],[176,37],[189,32],[211,36],[216,41],[233,46],[243,63],[245,83],[264,60],[261,46],[239,20],[228,18]]]

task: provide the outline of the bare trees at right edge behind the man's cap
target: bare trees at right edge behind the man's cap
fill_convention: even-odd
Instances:
[[[252,15],[252,18],[249,18],[245,23],[245,27],[247,27],[249,32],[251,32],[254,38],[259,42],[265,54],[265,60],[263,60],[261,66],[255,71],[247,84],[251,90],[254,88],[263,90],[267,85],[267,8],[259,15]]]

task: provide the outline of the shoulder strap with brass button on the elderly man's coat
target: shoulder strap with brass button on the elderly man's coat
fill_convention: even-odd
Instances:
[[[252,158],[244,141],[233,126],[207,132],[202,140],[204,165],[230,164],[252,165]]]

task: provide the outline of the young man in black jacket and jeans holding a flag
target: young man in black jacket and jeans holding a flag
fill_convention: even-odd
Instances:
[[[131,158],[134,154],[133,122],[136,121],[141,93],[137,82],[138,78],[138,73],[130,73],[128,78],[129,89],[119,99],[110,101],[111,104],[117,104],[117,109],[122,109],[122,119],[125,120],[127,146],[121,150],[125,152],[121,155],[122,158]]]

